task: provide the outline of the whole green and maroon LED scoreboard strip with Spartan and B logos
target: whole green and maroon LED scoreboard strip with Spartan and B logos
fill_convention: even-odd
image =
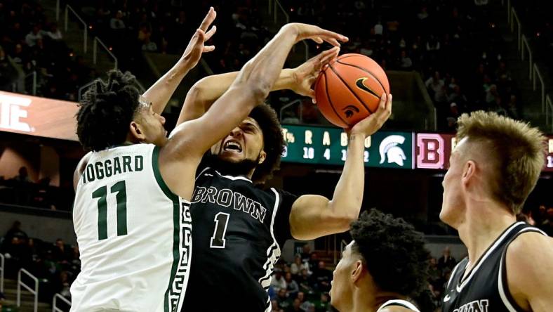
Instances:
[[[342,129],[283,125],[288,146],[283,162],[343,165],[347,157],[347,134]],[[378,131],[366,138],[366,167],[437,169],[449,168],[453,134]],[[544,171],[553,171],[553,136],[546,145]]]

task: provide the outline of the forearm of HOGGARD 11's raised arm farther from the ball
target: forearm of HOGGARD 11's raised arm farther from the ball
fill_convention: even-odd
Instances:
[[[184,59],[180,59],[171,70],[159,78],[147,91],[142,94],[144,98],[152,102],[154,112],[161,114],[164,111],[169,99],[175,93],[177,86],[186,76],[190,68]]]

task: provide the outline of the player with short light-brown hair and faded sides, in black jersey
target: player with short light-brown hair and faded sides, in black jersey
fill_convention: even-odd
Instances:
[[[495,112],[458,119],[440,219],[468,256],[451,272],[444,312],[552,311],[553,239],[517,222],[538,181],[545,137]]]

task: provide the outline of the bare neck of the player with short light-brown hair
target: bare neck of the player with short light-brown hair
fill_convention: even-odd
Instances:
[[[467,207],[465,221],[459,226],[459,237],[467,246],[469,266],[476,264],[486,249],[508,228],[517,221],[507,207],[501,204],[486,203]]]

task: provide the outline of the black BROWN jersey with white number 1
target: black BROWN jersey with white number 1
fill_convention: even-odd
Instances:
[[[282,190],[256,188],[243,176],[201,171],[190,207],[196,228],[182,311],[269,308],[267,290],[281,247],[291,238],[295,199]]]

